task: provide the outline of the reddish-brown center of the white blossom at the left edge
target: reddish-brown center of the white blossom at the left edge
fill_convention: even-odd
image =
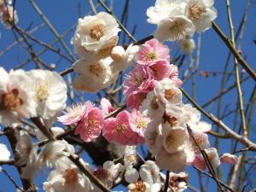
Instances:
[[[19,90],[14,89],[10,92],[3,93],[1,96],[0,109],[14,111],[23,104],[19,98]]]

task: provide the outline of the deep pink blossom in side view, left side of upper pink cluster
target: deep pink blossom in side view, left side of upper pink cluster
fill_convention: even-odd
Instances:
[[[127,75],[124,81],[124,93],[130,95],[137,91],[148,92],[153,90],[153,73],[146,67],[137,65]]]

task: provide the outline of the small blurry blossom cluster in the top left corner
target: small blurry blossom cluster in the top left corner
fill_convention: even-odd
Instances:
[[[11,28],[18,22],[18,15],[10,0],[0,1],[0,18],[3,26]]]

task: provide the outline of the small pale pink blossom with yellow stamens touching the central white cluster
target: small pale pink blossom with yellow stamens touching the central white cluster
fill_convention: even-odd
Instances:
[[[130,118],[131,130],[137,132],[140,137],[144,137],[144,133],[150,121],[150,118],[144,116],[139,110],[135,108],[132,109]]]

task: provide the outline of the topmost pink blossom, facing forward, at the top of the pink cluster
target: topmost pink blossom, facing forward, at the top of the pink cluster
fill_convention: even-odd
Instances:
[[[170,61],[169,49],[153,38],[141,46],[137,52],[137,63],[153,65],[156,61]]]

